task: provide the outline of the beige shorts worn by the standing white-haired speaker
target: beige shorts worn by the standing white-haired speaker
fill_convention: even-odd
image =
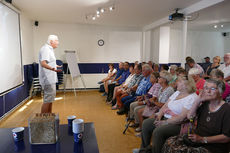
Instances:
[[[43,102],[52,103],[56,97],[56,84],[44,85],[43,93]]]

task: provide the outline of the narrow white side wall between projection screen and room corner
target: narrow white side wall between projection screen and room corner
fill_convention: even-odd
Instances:
[[[20,14],[21,45],[23,65],[32,64],[34,59],[32,21],[24,14]]]

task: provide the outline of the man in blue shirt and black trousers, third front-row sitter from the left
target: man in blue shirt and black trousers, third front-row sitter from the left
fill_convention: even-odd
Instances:
[[[124,63],[124,71],[122,72],[120,79],[116,83],[111,83],[108,85],[108,96],[106,101],[110,102],[113,98],[113,91],[115,86],[120,86],[129,76],[129,62]]]

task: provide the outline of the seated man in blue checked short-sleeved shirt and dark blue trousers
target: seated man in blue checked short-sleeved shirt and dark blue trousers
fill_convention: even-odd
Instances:
[[[152,83],[150,82],[152,68],[148,64],[144,64],[142,70],[144,78],[141,80],[135,93],[121,99],[124,106],[117,112],[118,115],[127,113],[130,108],[130,104],[136,100],[137,96],[145,95],[152,86]]]

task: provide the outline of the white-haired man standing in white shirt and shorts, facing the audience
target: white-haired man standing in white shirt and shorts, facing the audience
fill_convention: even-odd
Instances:
[[[39,81],[44,91],[41,113],[52,112],[52,102],[56,96],[57,72],[54,49],[58,47],[58,37],[49,35],[47,43],[39,51]]]

